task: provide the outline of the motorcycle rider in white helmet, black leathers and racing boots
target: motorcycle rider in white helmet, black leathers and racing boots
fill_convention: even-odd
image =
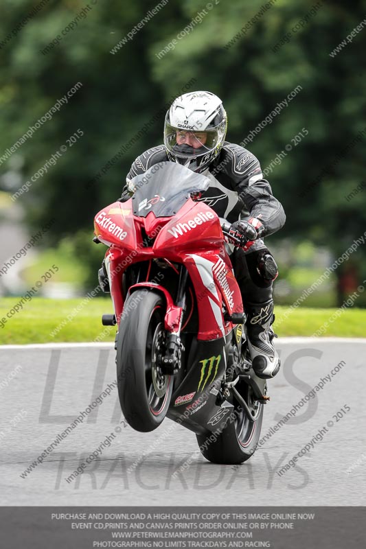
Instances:
[[[263,178],[258,159],[240,145],[225,141],[226,132],[227,115],[219,97],[207,91],[185,93],[166,113],[164,144],[138,156],[126,181],[162,161],[185,165],[211,180],[200,200],[231,223],[231,233],[242,244],[255,241],[247,250],[235,248],[231,263],[247,314],[253,369],[267,379],[280,366],[271,328],[273,280],[278,272],[262,238],[281,229],[286,216]]]

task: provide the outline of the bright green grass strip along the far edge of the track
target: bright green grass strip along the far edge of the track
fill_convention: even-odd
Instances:
[[[87,303],[82,303],[82,298],[56,300],[35,297],[11,315],[12,307],[18,302],[16,297],[1,300],[0,344],[114,341],[115,327],[104,327],[101,322],[102,314],[113,312],[109,297],[95,297]],[[366,309],[336,311],[299,307],[285,318],[288,307],[277,306],[274,329],[279,337],[312,336],[328,323],[322,336],[366,336]]]

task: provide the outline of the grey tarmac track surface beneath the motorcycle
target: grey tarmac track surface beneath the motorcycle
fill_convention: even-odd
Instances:
[[[113,388],[22,478],[58,433],[113,387],[115,351],[112,344],[0,347],[1,505],[365,505],[366,339],[282,338],[277,348],[282,369],[268,383],[267,438],[247,463],[207,462],[194,434],[169,419],[147,434],[124,427]],[[275,430],[295,405],[295,416]],[[67,482],[107,435],[114,435],[111,445]]]

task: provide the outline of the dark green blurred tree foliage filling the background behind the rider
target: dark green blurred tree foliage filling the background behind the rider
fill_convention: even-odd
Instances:
[[[162,142],[163,115],[98,181],[95,175],[192,78],[192,91],[207,89],[222,98],[229,117],[227,139],[234,143],[245,139],[296,86],[303,88],[247,145],[266,167],[301,128],[309,131],[268,176],[287,214],[286,226],[269,245],[284,237],[306,238],[317,246],[330,246],[338,257],[366,229],[366,193],[345,198],[365,179],[366,134],[343,154],[366,128],[366,29],[334,58],[329,55],[365,18],[366,0],[354,0],[352,6],[343,0],[322,0],[313,16],[307,16],[313,1],[277,0],[227,48],[265,2],[217,1],[161,59],[159,51],[205,9],[205,2],[168,2],[114,55],[111,49],[155,2],[89,3],[87,16],[47,54],[41,50],[61,35],[86,1],[50,0],[17,34],[12,30],[40,1],[2,2],[0,121],[6,130],[0,135],[0,156],[74,84],[82,83],[68,104],[2,163],[2,180],[20,178],[14,192],[78,128],[84,132],[19,202],[34,227],[54,213],[51,242],[71,237],[91,270],[97,259],[89,253],[91,246],[83,251],[85,231],[91,238],[95,213],[120,196],[135,157]],[[306,20],[304,26],[274,53],[273,47],[301,19]],[[8,34],[16,36],[4,43]],[[362,248],[354,254],[360,280],[366,278]],[[336,274],[341,272],[339,268]],[[96,273],[91,276],[96,281]]]

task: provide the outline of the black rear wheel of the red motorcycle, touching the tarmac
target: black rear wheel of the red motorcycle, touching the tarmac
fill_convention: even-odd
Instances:
[[[231,402],[234,410],[222,432],[196,435],[201,453],[212,463],[230,465],[243,463],[253,456],[260,439],[263,404],[254,399],[253,391],[248,384],[240,382],[236,387],[247,403],[249,414],[233,396]]]

